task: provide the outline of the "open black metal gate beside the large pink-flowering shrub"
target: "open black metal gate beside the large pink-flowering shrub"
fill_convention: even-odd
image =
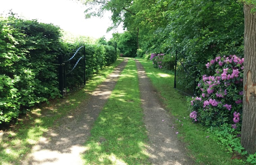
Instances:
[[[196,66],[176,50],[174,88],[190,96],[196,95]]]

